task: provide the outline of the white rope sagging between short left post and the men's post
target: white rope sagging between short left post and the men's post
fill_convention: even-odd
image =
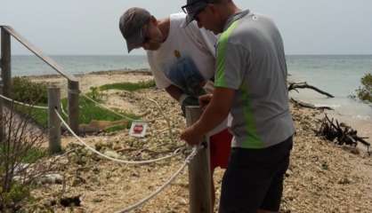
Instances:
[[[182,148],[178,148],[178,149],[174,150],[174,153],[173,153],[173,154],[169,154],[169,155],[167,155],[167,156],[165,156],[165,157],[161,157],[161,158],[153,159],[153,160],[147,160],[147,161],[140,161],[140,162],[129,162],[129,161],[124,161],[124,160],[120,160],[120,159],[117,159],[117,158],[113,158],[113,157],[110,157],[110,156],[108,156],[108,155],[106,155],[106,154],[101,154],[100,152],[98,152],[97,150],[95,150],[93,147],[87,145],[87,144],[84,142],[83,139],[79,138],[79,137],[77,136],[77,134],[76,134],[73,130],[71,130],[71,128],[69,127],[69,124],[68,124],[67,122],[65,122],[65,121],[62,119],[61,114],[59,114],[58,111],[57,111],[56,109],[54,109],[54,112],[55,112],[55,113],[57,114],[57,116],[60,118],[60,120],[61,120],[61,122],[63,123],[63,125],[65,125],[65,127],[69,130],[69,132],[70,132],[70,133],[71,133],[75,138],[77,138],[77,140],[78,140],[81,144],[83,144],[86,148],[90,149],[93,153],[98,154],[98,155],[100,155],[101,157],[104,157],[104,158],[106,158],[106,159],[109,159],[109,160],[111,160],[111,161],[113,161],[113,162],[120,162],[120,163],[127,163],[127,164],[146,164],[146,163],[151,163],[151,162],[159,162],[159,161],[166,160],[166,159],[168,159],[168,158],[172,158],[172,157],[174,157],[175,155],[180,154],[181,151],[182,151]]]

